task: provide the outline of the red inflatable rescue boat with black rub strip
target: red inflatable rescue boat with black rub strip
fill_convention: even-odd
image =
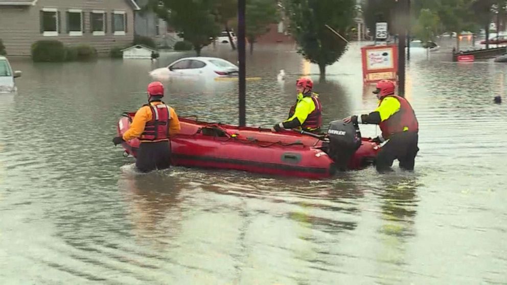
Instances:
[[[123,135],[135,113],[124,113],[118,122]],[[270,129],[238,127],[222,123],[179,118],[181,131],[171,138],[175,166],[236,169],[257,173],[324,178],[335,171],[325,152],[323,139],[293,131],[272,133]],[[139,140],[123,143],[127,154],[136,156]],[[362,138],[362,144],[348,163],[351,169],[371,164],[377,144]]]

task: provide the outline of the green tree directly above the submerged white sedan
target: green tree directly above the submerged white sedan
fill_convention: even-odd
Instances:
[[[216,0],[162,0],[157,10],[178,32],[179,36],[194,46],[198,56],[220,34],[217,22]]]

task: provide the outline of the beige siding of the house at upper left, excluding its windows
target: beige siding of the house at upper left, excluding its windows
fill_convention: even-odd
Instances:
[[[48,37],[40,33],[40,11],[42,8],[57,8],[60,12],[60,31],[58,36]],[[83,17],[83,35],[69,36],[66,27],[66,11],[81,9]],[[106,33],[94,36],[91,33],[91,10],[104,10],[106,16]],[[111,13],[113,10],[125,11],[127,31],[124,36],[113,35]],[[126,0],[39,0],[35,6],[15,7],[0,6],[0,39],[4,41],[7,54],[10,56],[30,56],[31,45],[38,40],[59,40],[65,45],[89,44],[99,54],[107,54],[111,47],[130,45],[134,36],[134,11]]]

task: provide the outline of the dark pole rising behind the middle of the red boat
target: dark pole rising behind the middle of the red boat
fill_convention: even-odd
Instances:
[[[246,68],[245,68],[245,7],[246,0],[238,0],[238,95],[239,95],[239,125],[246,124]]]

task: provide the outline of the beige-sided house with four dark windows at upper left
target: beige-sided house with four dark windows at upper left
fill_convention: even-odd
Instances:
[[[9,56],[30,56],[38,40],[89,44],[100,54],[134,37],[134,0],[0,0],[0,39]]]

